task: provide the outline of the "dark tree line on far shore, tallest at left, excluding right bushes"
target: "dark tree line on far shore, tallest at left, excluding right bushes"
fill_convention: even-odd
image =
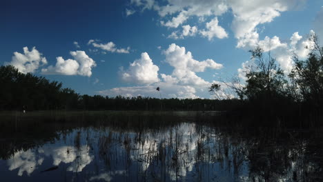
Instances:
[[[0,110],[227,110],[239,102],[81,95],[57,81],[23,74],[12,65],[0,67],[0,83]]]

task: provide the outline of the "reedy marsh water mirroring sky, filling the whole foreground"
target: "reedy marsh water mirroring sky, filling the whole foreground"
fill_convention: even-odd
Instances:
[[[193,112],[2,114],[1,181],[321,181],[320,129]]]

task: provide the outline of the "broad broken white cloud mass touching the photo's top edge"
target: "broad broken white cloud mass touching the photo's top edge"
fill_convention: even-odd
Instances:
[[[280,17],[281,12],[302,6],[304,0],[260,0],[252,3],[248,0],[167,0],[163,6],[159,6],[153,0],[132,2],[136,6],[143,7],[143,10],[156,10],[163,19],[161,25],[169,28],[177,28],[190,17],[198,17],[199,20],[202,20],[200,22],[204,22],[206,17],[214,18],[213,21],[206,23],[206,30],[201,32],[201,35],[209,40],[212,37],[219,39],[227,37],[226,31],[218,26],[217,17],[222,16],[225,12],[232,12],[231,27],[238,39],[237,45],[242,46],[248,44],[248,41],[253,41],[250,38],[258,36],[258,25],[273,21],[275,17]],[[173,37],[175,37],[175,33],[173,33]]]

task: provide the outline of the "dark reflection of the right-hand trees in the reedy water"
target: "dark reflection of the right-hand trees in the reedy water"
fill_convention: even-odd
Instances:
[[[322,151],[322,145],[317,145],[320,143],[317,139],[322,136],[302,131],[279,132],[273,128],[237,131],[230,137],[243,138],[244,146],[240,150],[246,154],[250,181],[322,181],[322,152],[313,157]],[[314,143],[315,150],[311,148]]]

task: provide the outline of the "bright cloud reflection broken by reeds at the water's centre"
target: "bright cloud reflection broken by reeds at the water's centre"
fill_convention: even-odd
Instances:
[[[174,130],[170,130],[170,133],[147,133],[144,137],[144,142],[136,143],[131,158],[133,161],[140,161],[141,171],[145,172],[149,169],[150,165],[153,165],[154,160],[158,154],[157,145],[163,143],[166,148],[165,162],[172,163],[173,155],[175,154],[175,148],[177,148],[177,166],[175,168],[168,169],[168,175],[173,181],[176,180],[176,176],[187,176],[188,172],[192,172],[193,166],[196,163],[195,150],[197,139],[199,134],[195,132],[195,125],[191,123],[183,123]],[[170,137],[170,135],[172,137]],[[177,136],[177,139],[175,138]],[[175,147],[176,146],[176,147]],[[186,151],[186,152],[184,152]]]

